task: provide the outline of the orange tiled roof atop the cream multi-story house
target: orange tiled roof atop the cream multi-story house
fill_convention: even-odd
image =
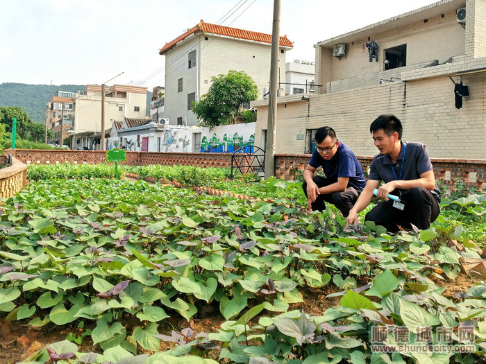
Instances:
[[[205,23],[202,19],[199,24],[191,28],[189,31],[185,32],[183,35],[177,37],[175,40],[166,43],[165,46],[160,49],[159,54],[164,54],[169,49],[172,49],[178,42],[185,40],[185,38],[196,32],[204,32],[216,35],[223,35],[226,37],[233,37],[242,40],[251,40],[253,42],[268,43],[271,44],[271,34],[258,33],[252,31],[244,31],[243,29],[230,28],[229,26],[222,26],[216,24]],[[280,46],[286,46],[293,48],[292,42],[287,38],[287,35],[280,37]]]

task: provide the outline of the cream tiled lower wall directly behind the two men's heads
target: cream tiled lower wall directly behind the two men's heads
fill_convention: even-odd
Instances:
[[[431,157],[486,159],[486,72],[462,80],[470,96],[461,109],[455,108],[449,76],[310,95],[310,101],[279,99],[276,153],[305,153],[305,139],[297,135],[330,125],[356,155],[376,155],[369,125],[378,115],[392,113],[403,123],[403,140],[426,144]],[[263,101],[257,107],[255,145],[260,146],[268,107]]]

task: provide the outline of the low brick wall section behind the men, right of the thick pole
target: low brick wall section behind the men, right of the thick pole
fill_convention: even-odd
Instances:
[[[298,171],[307,166],[310,154],[278,154],[275,155],[275,175],[285,180],[293,180]],[[371,165],[373,157],[358,157],[363,170]],[[435,178],[453,189],[456,180],[469,187],[486,190],[486,160],[484,159],[430,159],[434,168]]]

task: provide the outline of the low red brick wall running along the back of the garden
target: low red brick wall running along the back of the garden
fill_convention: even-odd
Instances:
[[[5,150],[26,164],[55,163],[103,163],[106,152],[100,150]],[[303,171],[310,155],[278,154],[275,156],[275,173],[278,178],[292,180],[297,171]],[[358,157],[364,171],[371,164],[372,157]],[[228,153],[153,153],[127,152],[126,162],[131,166],[175,164],[204,167],[231,166],[231,154]],[[483,159],[432,159],[437,180],[442,180],[446,187],[454,187],[455,180],[461,180],[465,185],[486,189],[486,160]]]

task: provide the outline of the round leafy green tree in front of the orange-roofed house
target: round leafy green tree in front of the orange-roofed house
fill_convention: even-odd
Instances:
[[[211,128],[233,122],[241,105],[257,98],[258,88],[250,76],[243,71],[229,71],[212,77],[208,94],[192,104],[192,111],[201,119],[201,126]]]

